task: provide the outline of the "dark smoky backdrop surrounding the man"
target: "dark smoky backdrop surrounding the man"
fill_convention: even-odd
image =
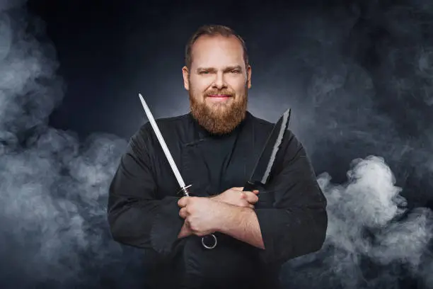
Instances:
[[[427,0],[1,0],[0,287],[141,288],[108,186],[147,121],[138,92],[156,118],[187,113],[185,44],[207,23],[246,40],[248,110],[292,108],[328,199],[323,249],[287,262],[284,285],[433,288]]]

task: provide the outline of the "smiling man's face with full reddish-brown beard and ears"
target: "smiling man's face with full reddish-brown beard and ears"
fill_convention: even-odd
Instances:
[[[251,67],[234,37],[201,36],[192,46],[190,71],[183,67],[185,89],[195,119],[214,134],[231,132],[245,118]]]

